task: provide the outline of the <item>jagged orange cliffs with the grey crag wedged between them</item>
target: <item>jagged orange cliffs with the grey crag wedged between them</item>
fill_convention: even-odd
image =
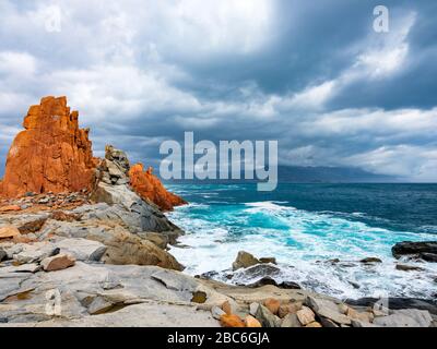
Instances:
[[[66,97],[45,97],[28,109],[24,131],[8,154],[0,196],[26,193],[90,192],[96,182],[132,189],[161,209],[170,210],[186,202],[163,186],[142,165],[130,168],[127,155],[107,146],[105,159],[93,157],[88,130],[80,129],[78,111],[70,111]]]

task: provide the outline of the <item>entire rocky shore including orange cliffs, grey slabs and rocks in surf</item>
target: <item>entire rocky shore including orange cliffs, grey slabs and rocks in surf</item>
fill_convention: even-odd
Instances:
[[[437,325],[429,302],[341,301],[277,284],[275,258],[247,252],[233,270],[259,273],[252,285],[185,275],[168,252],[184,231],[164,214],[182,198],[113,146],[93,158],[63,97],[43,98],[24,125],[0,182],[0,327]],[[435,243],[393,253],[432,260]]]

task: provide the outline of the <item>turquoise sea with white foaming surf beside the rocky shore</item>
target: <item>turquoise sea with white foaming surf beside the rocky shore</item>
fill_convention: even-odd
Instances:
[[[234,284],[256,281],[229,268],[238,251],[274,256],[277,281],[343,298],[435,298],[437,265],[408,262],[424,272],[395,269],[400,241],[437,240],[437,184],[173,184],[190,205],[169,218],[186,230],[172,253],[192,275],[217,272]],[[382,264],[357,261],[379,257]],[[327,263],[339,258],[338,264]],[[227,275],[227,277],[226,277]],[[259,276],[258,276],[259,277]]]

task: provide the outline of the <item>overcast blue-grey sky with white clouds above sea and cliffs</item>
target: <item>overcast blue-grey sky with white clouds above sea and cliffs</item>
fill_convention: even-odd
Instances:
[[[436,181],[436,16],[435,0],[0,0],[0,164],[28,106],[66,95],[97,155],[156,165],[194,131]]]

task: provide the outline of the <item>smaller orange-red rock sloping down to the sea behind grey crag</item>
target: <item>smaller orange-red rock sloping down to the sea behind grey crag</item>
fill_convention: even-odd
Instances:
[[[137,194],[155,203],[163,210],[172,210],[175,206],[187,204],[181,197],[169,193],[152,171],[151,167],[144,171],[142,164],[130,168],[130,185]]]

